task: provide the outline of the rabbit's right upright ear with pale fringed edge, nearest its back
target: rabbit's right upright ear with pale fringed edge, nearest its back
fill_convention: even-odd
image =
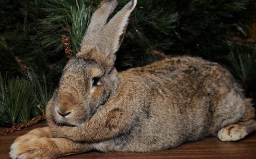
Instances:
[[[127,28],[130,15],[135,8],[137,0],[127,3],[104,27],[98,47],[109,64],[113,65],[115,52],[118,51]]]

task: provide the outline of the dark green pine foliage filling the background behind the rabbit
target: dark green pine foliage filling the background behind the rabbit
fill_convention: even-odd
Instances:
[[[117,11],[127,1],[119,0]],[[0,0],[0,125],[43,114],[100,3]],[[255,0],[141,0],[115,66],[121,71],[166,55],[200,56],[227,67],[255,98],[255,40]]]

